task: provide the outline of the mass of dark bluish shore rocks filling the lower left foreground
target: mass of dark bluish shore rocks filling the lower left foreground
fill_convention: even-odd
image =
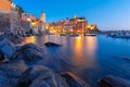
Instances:
[[[0,41],[0,87],[88,87],[69,73],[63,75],[36,65],[37,60],[43,59],[42,52],[34,44],[17,46],[9,39]]]

